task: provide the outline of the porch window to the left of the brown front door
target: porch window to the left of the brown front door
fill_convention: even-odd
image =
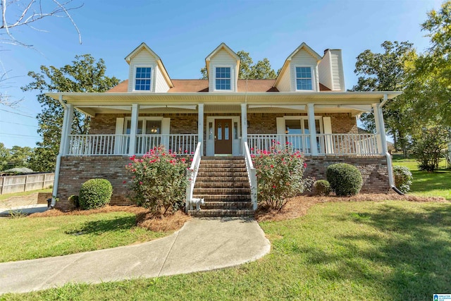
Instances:
[[[125,134],[130,135],[131,121],[125,123]],[[161,120],[141,119],[138,120],[136,129],[136,154],[145,154],[149,149],[158,147],[161,140]],[[129,145],[127,143],[127,145]]]

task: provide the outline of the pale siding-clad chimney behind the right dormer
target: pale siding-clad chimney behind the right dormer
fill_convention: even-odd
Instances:
[[[323,59],[318,64],[319,82],[332,91],[345,92],[345,75],[341,49],[324,50]]]

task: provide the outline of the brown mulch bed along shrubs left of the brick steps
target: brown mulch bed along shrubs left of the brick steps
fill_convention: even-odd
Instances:
[[[58,209],[51,209],[41,213],[30,214],[29,217],[49,217],[49,216],[66,216],[66,215],[89,215],[109,212],[130,212],[136,214],[137,226],[146,228],[154,232],[168,232],[177,231],[182,228],[186,221],[190,220],[182,211],[176,211],[174,214],[152,214],[148,209],[137,206],[106,206],[100,209],[81,210],[76,209],[72,211],[61,211]]]

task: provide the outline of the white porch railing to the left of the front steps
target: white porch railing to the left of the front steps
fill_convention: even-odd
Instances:
[[[134,154],[164,145],[175,154],[194,154],[196,134],[136,135]],[[68,156],[110,156],[130,154],[130,135],[69,135]]]

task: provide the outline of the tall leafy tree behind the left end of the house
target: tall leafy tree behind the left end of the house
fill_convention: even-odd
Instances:
[[[42,113],[37,115],[37,132],[42,135],[42,142],[37,143],[37,155],[32,159],[32,165],[39,166],[39,170],[48,171],[53,170],[55,166],[64,111],[58,100],[47,97],[44,92],[105,92],[118,85],[120,80],[106,76],[104,60],[99,59],[96,62],[90,54],[75,56],[72,65],[61,68],[41,66],[40,69],[40,73],[28,73],[33,81],[22,87],[22,90],[39,92],[37,100],[42,105]],[[72,133],[87,134],[89,122],[89,117],[75,110]]]

